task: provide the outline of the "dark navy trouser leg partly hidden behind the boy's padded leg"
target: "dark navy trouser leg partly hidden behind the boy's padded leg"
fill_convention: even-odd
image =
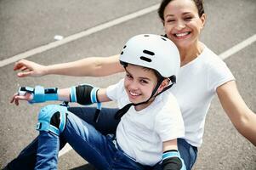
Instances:
[[[100,111],[99,122],[94,122],[94,113],[96,108],[94,107],[70,107],[68,111],[73,112],[79,116],[85,122],[92,123],[102,133],[115,133],[118,122],[114,119],[114,115],[117,109],[102,108]],[[10,161],[7,165],[7,169],[15,170],[24,167],[23,169],[34,169],[37,156],[37,143],[38,137],[34,139],[31,144],[26,146],[24,150],[20,152],[13,161]],[[60,149],[64,147],[66,141],[60,135]]]

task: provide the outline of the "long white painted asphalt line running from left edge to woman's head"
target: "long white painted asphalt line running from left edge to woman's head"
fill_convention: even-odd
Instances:
[[[141,9],[137,12],[122,16],[120,18],[117,18],[116,20],[111,20],[111,21],[106,22],[104,24],[101,24],[99,26],[94,26],[92,28],[89,28],[86,31],[82,31],[82,32],[79,32],[77,34],[73,34],[69,37],[65,37],[60,41],[50,42],[50,43],[48,43],[46,45],[43,45],[43,46],[40,46],[38,48],[33,48],[33,49],[31,49],[29,51],[26,51],[22,54],[14,55],[13,57],[10,57],[9,59],[3,59],[2,61],[0,61],[0,67],[3,67],[4,65],[9,65],[11,63],[14,63],[15,61],[20,60],[20,59],[26,59],[26,58],[28,58],[32,55],[35,55],[35,54],[43,53],[44,51],[47,51],[51,48],[59,47],[60,45],[63,45],[63,44],[68,43],[68,42],[75,41],[75,40],[77,40],[81,37],[87,37],[88,35],[94,34],[95,32],[102,31],[106,28],[110,28],[111,26],[117,26],[118,24],[121,24],[122,22],[132,20],[132,19],[137,18],[139,16],[142,16],[144,14],[149,14],[149,13],[155,11],[157,8],[159,8],[159,4],[160,3],[157,3],[156,5],[153,5],[151,7]]]

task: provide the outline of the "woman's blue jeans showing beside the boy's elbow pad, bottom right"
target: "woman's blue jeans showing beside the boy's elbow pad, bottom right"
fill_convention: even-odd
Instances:
[[[187,170],[191,170],[196,162],[197,148],[185,141],[185,139],[178,139],[178,150],[180,157],[185,162]],[[153,170],[161,170],[162,166],[157,164]]]

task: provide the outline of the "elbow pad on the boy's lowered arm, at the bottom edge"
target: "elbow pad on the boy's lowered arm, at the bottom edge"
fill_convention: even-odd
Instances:
[[[185,170],[185,163],[178,150],[167,150],[162,154],[163,170]]]

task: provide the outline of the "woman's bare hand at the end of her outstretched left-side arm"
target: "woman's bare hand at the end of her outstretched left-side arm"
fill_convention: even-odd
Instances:
[[[14,64],[14,71],[20,71],[17,73],[18,77],[42,77],[46,75],[47,69],[45,65],[21,59]]]

